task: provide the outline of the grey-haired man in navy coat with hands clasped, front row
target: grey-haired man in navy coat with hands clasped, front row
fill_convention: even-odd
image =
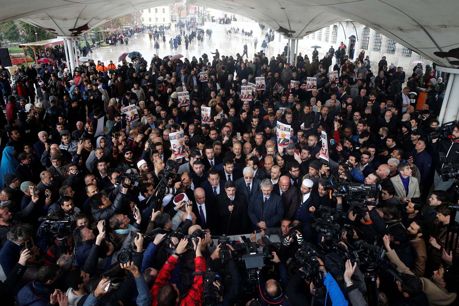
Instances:
[[[260,188],[250,200],[248,213],[256,229],[266,229],[280,224],[284,206],[280,196],[273,192],[271,180],[264,179]]]

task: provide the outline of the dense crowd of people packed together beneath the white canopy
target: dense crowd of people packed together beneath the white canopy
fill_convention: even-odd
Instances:
[[[365,58],[354,63],[340,51],[333,64],[334,49],[296,63],[286,52],[211,56],[89,61],[73,73],[30,66],[15,88],[2,76],[2,300],[453,305],[456,184],[442,168],[459,162],[459,124],[432,136],[442,80],[429,67],[406,78],[384,58],[372,78]],[[241,86],[256,77],[265,90],[246,100]],[[317,89],[306,90],[307,77]],[[422,110],[411,92],[428,93]],[[132,105],[136,121],[123,111]],[[208,123],[202,106],[211,108]],[[291,126],[285,147],[278,123]],[[178,131],[181,158],[169,138]],[[342,189],[333,194],[338,181],[376,193],[356,209]],[[244,247],[225,240],[247,234]],[[362,244],[370,251],[356,253]],[[241,263],[249,245],[265,257],[249,269],[259,267],[255,283]],[[376,250],[386,269],[377,265],[371,279],[364,257]]]

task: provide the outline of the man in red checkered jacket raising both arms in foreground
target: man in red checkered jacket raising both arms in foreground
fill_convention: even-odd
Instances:
[[[206,261],[201,254],[201,238],[198,238],[198,244],[193,241],[193,245],[196,249],[195,258],[195,272],[206,271]],[[151,288],[151,299],[153,300],[152,306],[201,306],[202,304],[202,292],[204,286],[202,285],[202,275],[196,275],[193,281],[193,285],[190,290],[180,299],[179,290],[175,284],[170,284],[171,271],[174,270],[175,265],[179,262],[179,256],[186,251],[186,245],[188,241],[186,239],[180,240],[175,254],[169,256],[168,260],[162,266],[161,271],[156,278],[153,288]]]

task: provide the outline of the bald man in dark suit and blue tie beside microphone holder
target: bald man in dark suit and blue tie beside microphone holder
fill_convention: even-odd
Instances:
[[[196,215],[196,224],[203,229],[209,228],[211,233],[217,233],[218,205],[210,200],[206,204],[206,193],[202,188],[196,188],[194,195],[192,211]]]

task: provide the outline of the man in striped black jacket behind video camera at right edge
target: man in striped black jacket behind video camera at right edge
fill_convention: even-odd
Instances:
[[[453,132],[448,137],[432,139],[432,154],[437,156],[438,152],[446,154],[446,163],[459,163],[459,123],[453,128]],[[443,168],[443,163],[438,162],[434,176],[435,189],[446,190],[453,184],[454,180],[450,178],[447,182],[443,182],[440,176],[440,171]]]

